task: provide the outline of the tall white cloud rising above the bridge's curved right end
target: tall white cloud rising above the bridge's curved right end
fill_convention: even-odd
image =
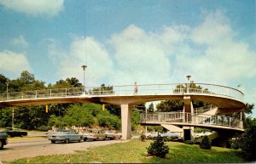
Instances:
[[[191,41],[204,51],[177,56],[175,76],[189,72],[197,82],[227,83],[256,76],[255,52],[246,42],[237,42],[229,19],[219,10],[207,14],[205,20],[191,30]],[[193,45],[191,48],[196,49]]]

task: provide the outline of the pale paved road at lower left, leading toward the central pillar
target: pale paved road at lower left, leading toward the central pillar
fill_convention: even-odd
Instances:
[[[71,154],[74,150],[86,150],[90,147],[122,142],[126,141],[106,140],[51,144],[48,139],[42,137],[13,138],[9,139],[9,144],[5,145],[3,150],[0,150],[0,163],[25,157]]]

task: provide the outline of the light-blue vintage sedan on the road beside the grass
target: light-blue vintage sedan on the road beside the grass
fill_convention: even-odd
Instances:
[[[56,141],[64,141],[67,144],[71,141],[81,142],[84,139],[84,137],[82,134],[75,133],[72,130],[59,130],[56,133],[49,134],[48,139],[53,144],[55,144]]]

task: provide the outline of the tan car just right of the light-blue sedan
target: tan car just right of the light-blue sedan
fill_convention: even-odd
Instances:
[[[89,129],[86,133],[84,133],[84,141],[89,139],[94,141],[105,140],[107,139],[107,134],[105,134],[102,130]]]

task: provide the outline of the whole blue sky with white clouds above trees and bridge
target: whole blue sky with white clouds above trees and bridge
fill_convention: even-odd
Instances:
[[[256,105],[255,22],[253,0],[0,0],[0,73],[82,82],[85,64],[87,86],[191,75],[242,84]]]

